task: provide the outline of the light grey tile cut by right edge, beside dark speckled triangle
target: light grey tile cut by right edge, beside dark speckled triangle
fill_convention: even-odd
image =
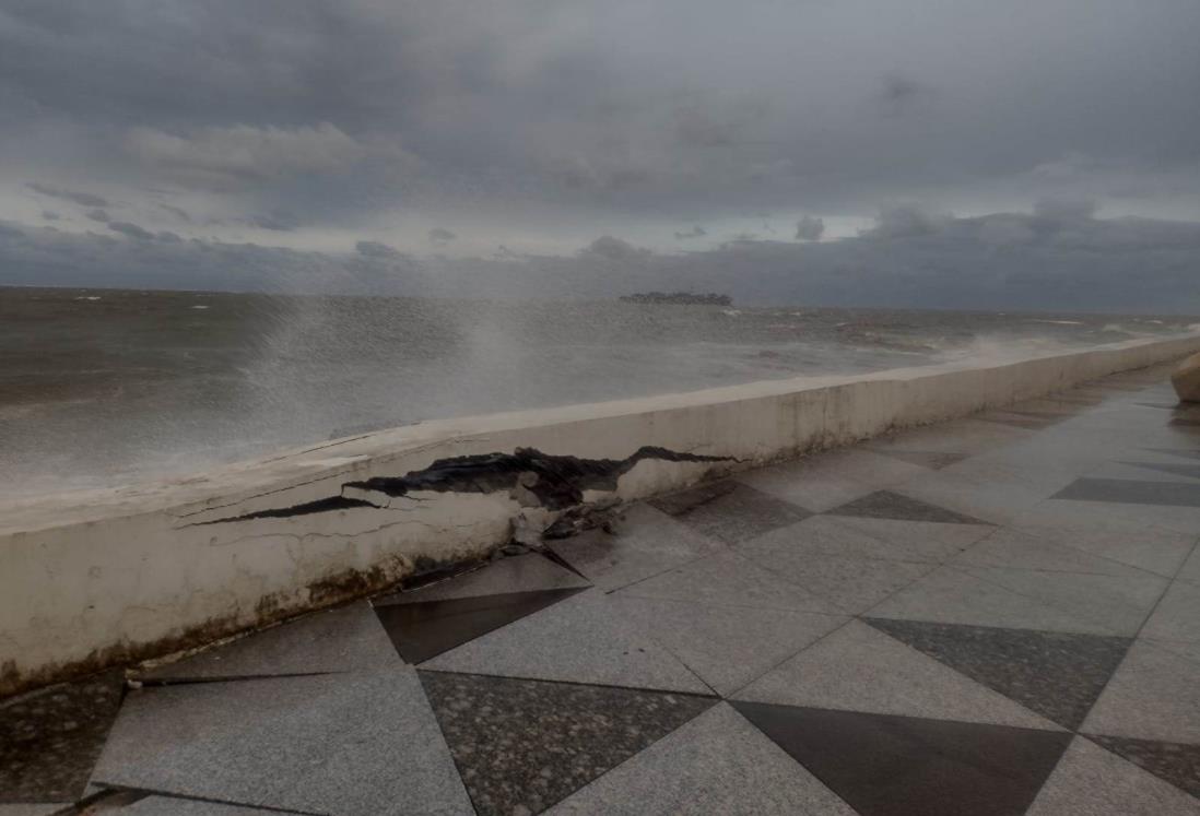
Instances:
[[[1200,743],[1200,650],[1189,656],[1188,646],[1135,641],[1081,731]]]

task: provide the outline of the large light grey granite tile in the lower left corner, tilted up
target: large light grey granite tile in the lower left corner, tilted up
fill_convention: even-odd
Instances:
[[[415,672],[131,692],[94,781],[307,812],[470,814]]]

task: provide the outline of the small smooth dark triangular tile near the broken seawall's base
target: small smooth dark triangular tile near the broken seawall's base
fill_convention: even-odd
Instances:
[[[584,587],[511,592],[374,607],[379,623],[406,662],[418,664],[449,652],[527,614],[570,598]]]

